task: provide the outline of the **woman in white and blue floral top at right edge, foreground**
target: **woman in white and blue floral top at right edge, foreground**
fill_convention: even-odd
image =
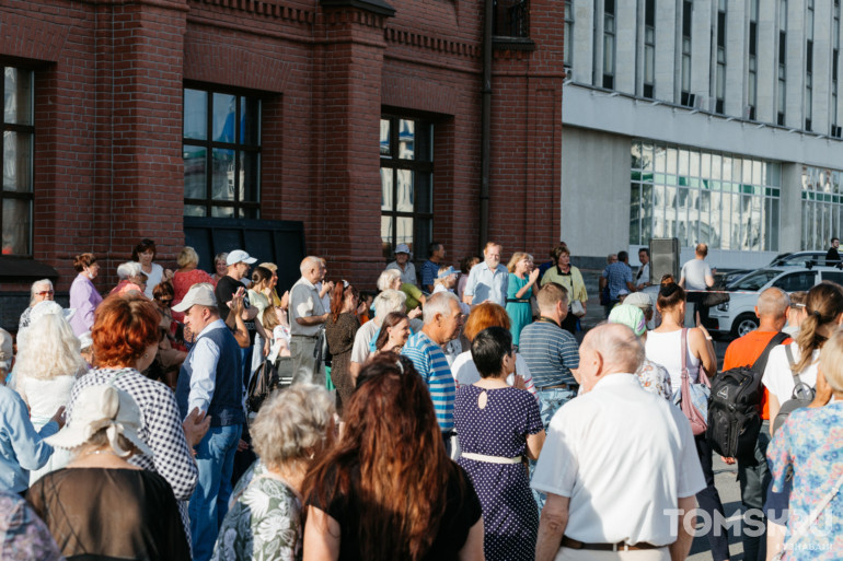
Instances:
[[[840,492],[843,486],[840,430],[843,426],[843,331],[840,329],[831,332],[820,351],[817,390],[817,399],[808,408],[788,416],[767,449],[773,491],[781,492],[793,478],[783,546],[788,560],[840,559],[843,551],[840,515],[843,512]],[[781,547],[781,541],[769,541],[767,551],[772,554]]]

